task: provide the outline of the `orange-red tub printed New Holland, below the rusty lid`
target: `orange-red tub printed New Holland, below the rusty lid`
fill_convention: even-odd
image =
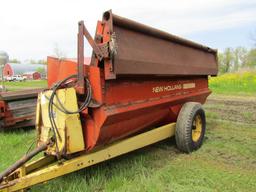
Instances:
[[[76,62],[48,57],[48,70],[49,74],[59,74],[54,80],[49,78],[51,86],[69,76],[69,72],[75,73]],[[211,93],[207,76],[106,81],[102,69],[84,65],[84,70],[89,74],[93,98],[100,104],[81,114],[86,150],[175,122],[182,104],[187,101],[204,103]]]

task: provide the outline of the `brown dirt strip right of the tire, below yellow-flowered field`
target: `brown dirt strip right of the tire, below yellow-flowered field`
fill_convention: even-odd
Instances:
[[[218,119],[256,124],[256,97],[215,96],[207,99],[206,112],[218,114]]]

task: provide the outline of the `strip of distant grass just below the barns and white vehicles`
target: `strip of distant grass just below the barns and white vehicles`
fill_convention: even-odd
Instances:
[[[34,80],[34,81],[23,81],[23,82],[4,82],[7,90],[15,91],[21,89],[33,89],[47,87],[46,80]]]

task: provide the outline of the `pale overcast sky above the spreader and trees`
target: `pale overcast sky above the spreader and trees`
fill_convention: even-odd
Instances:
[[[97,20],[109,9],[220,50],[251,47],[256,36],[256,0],[4,0],[0,50],[10,58],[45,59],[57,45],[75,57],[78,21],[94,34]]]

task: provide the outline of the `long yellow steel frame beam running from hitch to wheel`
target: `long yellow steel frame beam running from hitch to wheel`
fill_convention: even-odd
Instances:
[[[33,185],[167,139],[175,134],[175,126],[176,123],[167,124],[61,163],[53,156],[45,156],[14,172],[12,175],[17,174],[19,178],[1,183],[0,192],[23,191]]]

